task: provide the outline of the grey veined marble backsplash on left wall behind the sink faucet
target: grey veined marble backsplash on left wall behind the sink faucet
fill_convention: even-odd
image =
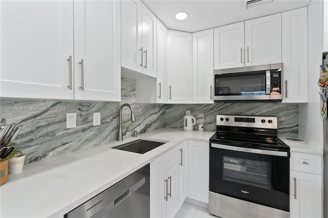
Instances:
[[[166,105],[136,104],[135,81],[121,78],[120,102],[29,101],[1,100],[0,107],[29,107],[24,111],[1,110],[7,123],[24,125],[14,140],[17,149],[26,154],[25,164],[50,158],[67,151],[97,146],[117,140],[119,107],[130,103],[136,121],[130,121],[130,109],[122,110],[122,128],[144,133],[165,127]],[[42,107],[61,107],[60,111],[45,111]],[[39,110],[41,108],[41,110]],[[101,124],[93,126],[93,113],[100,112]],[[76,127],[66,128],[66,114],[76,113]]]

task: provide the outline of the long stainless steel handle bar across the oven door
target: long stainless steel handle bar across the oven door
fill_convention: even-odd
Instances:
[[[259,155],[272,155],[272,156],[288,157],[288,152],[286,152],[286,151],[262,150],[262,149],[247,148],[247,147],[221,145],[221,144],[215,144],[215,143],[211,143],[211,147],[221,148],[221,149],[226,149],[226,150],[249,152],[249,153],[254,153],[254,154],[259,154]]]

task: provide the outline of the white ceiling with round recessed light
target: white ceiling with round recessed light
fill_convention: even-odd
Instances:
[[[246,9],[248,0],[142,0],[142,2],[171,30],[197,32],[265,15],[308,6],[311,0],[273,0],[272,3]],[[186,20],[175,14],[185,11]]]

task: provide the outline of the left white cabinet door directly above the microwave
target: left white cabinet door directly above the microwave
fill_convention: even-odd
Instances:
[[[244,21],[214,29],[214,69],[244,67]]]

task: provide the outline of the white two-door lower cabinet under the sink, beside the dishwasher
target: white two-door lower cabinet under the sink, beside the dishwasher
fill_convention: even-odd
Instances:
[[[174,217],[178,211],[178,152],[150,163],[150,217]]]

